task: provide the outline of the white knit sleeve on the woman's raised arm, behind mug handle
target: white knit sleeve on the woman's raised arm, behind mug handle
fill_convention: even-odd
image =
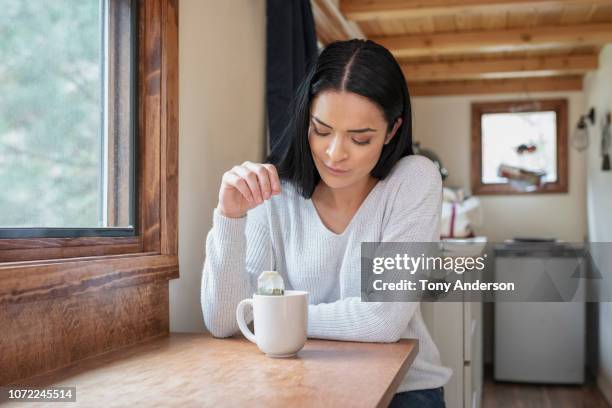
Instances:
[[[236,307],[253,296],[257,277],[271,256],[265,206],[243,218],[228,218],[215,209],[213,227],[206,237],[201,306],[204,324],[215,337],[238,331]],[[250,321],[252,316],[247,316]]]

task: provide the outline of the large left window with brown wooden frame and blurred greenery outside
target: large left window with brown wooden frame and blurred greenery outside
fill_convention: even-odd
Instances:
[[[48,260],[32,293],[75,262],[88,279],[177,276],[177,1],[3,7],[0,298]]]

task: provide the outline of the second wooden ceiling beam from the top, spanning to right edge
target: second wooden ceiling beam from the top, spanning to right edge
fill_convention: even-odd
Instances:
[[[398,58],[468,52],[520,51],[612,42],[612,24],[413,34],[371,39],[388,48]]]

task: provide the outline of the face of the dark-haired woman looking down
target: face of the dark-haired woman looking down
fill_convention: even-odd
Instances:
[[[369,180],[384,144],[401,125],[387,133],[381,109],[352,92],[327,91],[310,107],[308,142],[321,179],[340,189]]]

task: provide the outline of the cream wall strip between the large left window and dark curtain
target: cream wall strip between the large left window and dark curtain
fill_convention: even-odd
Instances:
[[[181,0],[179,7],[179,266],[170,331],[202,331],[200,279],[223,172],[261,160],[265,1]]]

